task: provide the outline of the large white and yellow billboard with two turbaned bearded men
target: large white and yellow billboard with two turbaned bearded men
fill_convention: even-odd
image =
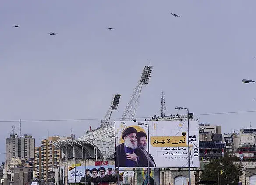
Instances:
[[[116,139],[115,165],[116,167],[119,165],[120,168],[142,168],[148,166],[149,159],[151,168],[188,167],[188,140],[190,140],[190,166],[198,168],[198,131],[198,121],[189,120],[189,136],[187,135],[187,119],[116,121],[115,134],[119,142]]]

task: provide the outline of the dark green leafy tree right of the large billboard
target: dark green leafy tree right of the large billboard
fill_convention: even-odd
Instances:
[[[200,180],[201,181],[217,181],[220,177],[221,185],[230,185],[237,183],[239,176],[243,174],[240,159],[231,154],[225,153],[220,159],[211,159],[204,166]]]

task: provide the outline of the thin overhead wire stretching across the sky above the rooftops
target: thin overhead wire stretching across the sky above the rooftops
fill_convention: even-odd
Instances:
[[[237,111],[237,112],[214,112],[205,114],[194,114],[194,115],[220,115],[220,114],[238,114],[238,113],[248,113],[256,112],[252,111]],[[137,119],[151,118],[152,116],[137,117]],[[64,122],[64,121],[92,121],[101,120],[103,118],[87,118],[87,119],[32,119],[32,120],[22,120],[22,122]],[[120,120],[121,118],[111,118],[112,120]],[[0,120],[0,122],[19,122],[20,120]]]

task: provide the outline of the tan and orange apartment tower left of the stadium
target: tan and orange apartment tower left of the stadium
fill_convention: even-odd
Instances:
[[[40,182],[54,184],[54,168],[59,167],[60,149],[53,145],[57,140],[67,140],[70,137],[53,136],[41,141],[40,147],[35,147],[34,175]]]

